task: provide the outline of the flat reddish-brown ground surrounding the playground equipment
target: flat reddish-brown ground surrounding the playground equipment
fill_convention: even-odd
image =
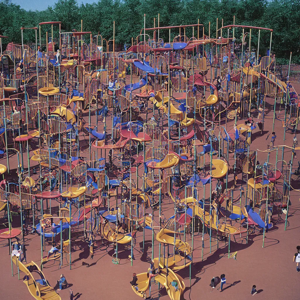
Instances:
[[[300,87],[295,86],[298,91]],[[250,145],[250,150],[265,150],[267,148],[266,137],[272,131],[273,124],[273,109],[274,99],[268,98],[269,113],[265,116],[265,127],[263,135],[260,136],[258,128],[254,130]],[[279,105],[276,108],[279,110]],[[238,122],[242,123],[240,120]],[[233,126],[233,125],[232,125]],[[275,145],[292,146],[293,134],[286,133],[286,140],[283,141],[283,127],[281,122],[275,120],[276,142]],[[299,137],[297,135],[299,140]],[[283,159],[289,161],[292,152],[287,149],[284,152]],[[298,158],[300,158],[300,153]],[[32,154],[31,154],[32,155]],[[275,161],[276,152],[270,154],[269,161]],[[278,160],[282,159],[282,152],[278,151]],[[27,154],[23,153],[24,166],[26,166]],[[100,156],[99,156],[100,157]],[[229,155],[229,164],[234,164],[232,154]],[[258,160],[262,163],[267,159],[267,154],[258,152]],[[0,161],[1,164],[6,164],[6,159]],[[11,169],[16,167],[16,157],[10,158]],[[293,166],[298,165],[298,159],[294,160]],[[233,183],[233,175],[228,176],[228,184]],[[282,180],[279,181],[279,185]],[[246,187],[246,184],[243,185]],[[299,177],[292,176],[292,186],[299,189]],[[213,186],[214,187],[214,186]],[[209,188],[205,195],[208,196]],[[202,195],[203,191],[199,191]],[[197,232],[193,240],[193,264],[191,268],[185,268],[178,271],[178,274],[184,278],[186,290],[184,298],[186,300],[198,299],[252,299],[250,294],[252,285],[256,285],[258,293],[256,299],[299,299],[299,279],[300,272],[296,273],[296,263],[292,262],[296,246],[300,244],[300,194],[295,191],[290,193],[291,204],[289,206],[288,226],[284,230],[284,223],[274,225],[271,230],[265,234],[265,244],[262,247],[262,235],[249,235],[248,243],[243,241],[231,240],[230,253],[238,251],[237,260],[228,259],[228,242],[219,242],[218,247],[215,239],[212,239],[211,253],[209,234],[204,236],[204,249],[202,260],[202,232]],[[55,210],[55,205],[53,204]],[[170,203],[169,199],[163,200],[163,212],[166,217],[171,216],[174,212],[174,203]],[[152,209],[147,210],[148,213]],[[154,212],[155,220],[158,220],[158,211]],[[274,220],[277,220],[277,215],[273,215]],[[13,217],[13,227],[19,226],[19,216]],[[186,241],[191,244],[191,236],[187,235]],[[0,266],[2,283],[0,299],[32,299],[25,284],[22,283],[23,274],[20,274],[18,280],[17,269],[13,266],[13,274],[11,277],[11,260],[9,256],[9,248],[4,247],[7,241],[0,241]],[[27,248],[27,262],[33,260],[39,264],[41,260],[41,238],[39,235],[27,235],[25,237]],[[102,243],[101,237],[97,236],[94,259],[89,258],[88,243],[83,240],[83,235],[79,237],[72,252],[72,265],[67,265],[64,258],[64,264],[61,269],[58,269],[58,262],[48,262],[43,272],[51,286],[55,286],[56,280],[60,274],[64,274],[75,299],[123,299],[132,300],[139,297],[132,291],[129,281],[132,279],[132,273],[146,272],[149,267],[149,259],[151,259],[152,251],[154,257],[158,257],[158,242],[155,240],[155,247],[152,249],[152,231],[145,230],[145,248],[144,253],[141,252],[140,246],[143,245],[143,232],[138,232],[137,242],[134,247],[133,265],[128,259],[130,248],[120,246],[118,249],[118,257],[121,258],[120,264],[112,263],[112,255],[114,253],[113,246],[107,243]],[[51,246],[46,246],[46,251]],[[166,247],[167,249],[167,247]],[[43,253],[43,256],[46,252]],[[67,258],[69,259],[69,258]],[[89,264],[87,267],[86,264]],[[227,285],[219,294],[216,289],[211,290],[210,282],[214,276],[220,281],[221,274],[226,275]],[[191,280],[189,280],[189,277]],[[219,285],[218,285],[219,286]],[[56,286],[56,288],[58,288]],[[63,300],[69,299],[69,289],[58,291]],[[165,289],[158,291],[158,285],[152,283],[151,296],[153,299],[169,299]]]

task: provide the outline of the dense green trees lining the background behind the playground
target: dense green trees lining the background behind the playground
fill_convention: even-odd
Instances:
[[[9,0],[0,1],[0,34],[10,38],[4,39],[3,46],[10,41],[21,42],[21,27],[35,27],[39,22],[61,21],[61,30],[70,32],[72,29],[91,31],[93,35],[102,35],[110,40],[113,38],[113,21],[115,21],[115,41],[117,44],[131,43],[131,38],[136,38],[144,27],[144,13],[146,13],[146,27],[158,25],[158,13],[160,14],[160,26],[174,26],[197,24],[198,19],[205,26],[205,35],[212,38],[220,36],[220,30],[216,32],[216,20],[218,29],[223,25],[235,24],[251,25],[273,29],[271,51],[277,58],[289,59],[292,51],[292,62],[300,61],[300,1],[299,0],[99,0],[93,4],[81,4],[76,0],[58,0],[53,7],[43,11],[26,11],[19,5],[10,3]],[[42,26],[42,41],[45,43],[45,32],[51,34],[51,26]],[[183,29],[182,29],[183,31]],[[53,27],[54,35],[58,37],[58,26]],[[249,32],[245,29],[245,32]],[[146,32],[149,33],[150,32]],[[179,30],[171,31],[171,39],[179,34]],[[192,28],[186,28],[186,35],[192,36]],[[227,37],[227,29],[222,32]],[[235,29],[235,37],[242,35],[242,29]],[[197,36],[197,26],[194,28],[194,36]],[[199,36],[202,36],[202,28]],[[232,37],[232,30],[229,31]],[[161,30],[160,37],[169,40],[169,31]],[[248,35],[249,37],[249,35]],[[35,41],[33,30],[24,31],[24,42]],[[257,48],[258,30],[251,32],[251,48]],[[270,32],[260,32],[259,53],[265,55],[269,48]]]

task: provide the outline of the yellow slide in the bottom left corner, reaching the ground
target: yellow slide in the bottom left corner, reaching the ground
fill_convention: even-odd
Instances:
[[[39,266],[35,264],[35,262],[32,261],[24,265],[16,256],[12,257],[12,261],[19,267],[20,272],[24,272],[26,274],[27,279],[23,282],[26,284],[33,298],[37,300],[61,300],[61,297],[55,292],[53,287],[49,286],[44,273],[41,271]],[[35,271],[35,273],[38,273],[42,279],[44,278],[42,284],[40,283],[40,280],[36,281],[32,273],[28,270],[27,267],[30,266],[36,267],[37,271]]]

